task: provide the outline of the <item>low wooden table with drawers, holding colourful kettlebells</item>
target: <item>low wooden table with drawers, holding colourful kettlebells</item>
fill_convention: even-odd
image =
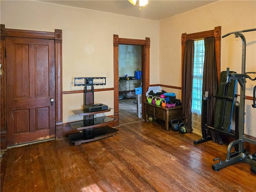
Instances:
[[[144,102],[146,111],[145,121],[148,120],[148,116],[156,117],[157,119],[165,121],[166,131],[169,131],[169,122],[173,119],[180,120],[182,118],[182,106],[176,106],[173,108],[166,108]]]

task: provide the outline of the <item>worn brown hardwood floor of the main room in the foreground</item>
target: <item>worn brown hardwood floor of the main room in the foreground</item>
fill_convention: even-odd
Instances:
[[[1,192],[255,192],[256,175],[238,162],[212,170],[226,145],[194,145],[194,133],[138,121],[115,136],[73,146],[68,138],[10,148]]]

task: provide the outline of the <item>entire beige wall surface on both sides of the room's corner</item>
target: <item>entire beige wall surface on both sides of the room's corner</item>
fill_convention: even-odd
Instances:
[[[219,1],[161,20],[140,19],[95,10],[36,1],[0,1],[1,24],[6,28],[63,34],[63,90],[76,90],[74,77],[110,76],[113,87],[113,34],[120,38],[150,38],[150,84],[181,86],[181,34],[212,30],[222,26],[222,35],[256,28],[256,1]],[[247,41],[246,71],[256,71],[256,32],[244,33]],[[241,71],[242,44],[230,35],[222,39],[221,70]],[[99,70],[100,69],[100,70]],[[252,96],[255,82],[247,81],[246,95]],[[167,90],[167,89],[166,89]],[[180,98],[180,91],[175,92]],[[239,90],[237,91],[239,93]],[[113,107],[113,91],[96,92],[95,102]],[[256,111],[246,100],[246,128],[256,136]],[[63,95],[63,122],[80,120],[72,110],[82,108],[83,94]],[[113,114],[112,112],[106,115]]]

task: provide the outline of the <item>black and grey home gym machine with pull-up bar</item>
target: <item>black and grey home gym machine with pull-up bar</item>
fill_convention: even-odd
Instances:
[[[251,78],[249,74],[256,74],[256,72],[245,72],[245,58],[246,58],[246,40],[242,32],[256,31],[256,28],[249,30],[242,30],[237,32],[228,33],[222,38],[229,36],[230,34],[235,34],[235,38],[240,37],[242,39],[242,70],[241,74],[236,72],[230,72],[229,68],[223,73],[226,73],[226,77],[220,79],[219,89],[224,88],[223,95],[220,95],[220,90],[218,90],[218,95],[216,95],[217,100],[221,100],[216,106],[215,116],[214,116],[214,127],[208,126],[205,124],[205,117],[202,118],[203,124],[205,125],[202,129],[202,139],[194,141],[194,144],[200,144],[206,141],[211,140],[212,138],[207,135],[207,130],[212,130],[220,134],[232,136],[235,140],[230,142],[227,148],[226,160],[221,160],[220,158],[214,158],[214,161],[219,161],[216,164],[212,165],[212,169],[215,171],[220,170],[228,165],[231,165],[235,162],[244,161],[251,166],[251,171],[256,174],[256,154],[249,154],[244,148],[244,142],[248,142],[256,145],[256,140],[248,138],[244,135],[244,119],[245,119],[245,90],[246,90],[246,78],[254,81],[255,78]],[[224,82],[222,81],[224,80]],[[221,82],[222,81],[222,82]],[[235,133],[230,133],[230,126],[232,121],[232,112],[234,105],[234,90],[236,82],[240,85],[240,100],[236,102],[236,120],[235,120]],[[233,84],[233,86],[232,86]],[[253,91],[253,104],[252,107],[255,108],[256,113],[256,104],[255,104],[255,87]],[[232,95],[233,94],[233,95]],[[203,96],[203,111],[206,112],[207,96]],[[231,104],[231,105],[230,105]],[[205,113],[204,113],[205,114]],[[216,120],[217,118],[218,120]],[[255,125],[256,126],[256,125]],[[232,147],[235,148],[234,152],[231,152]]]

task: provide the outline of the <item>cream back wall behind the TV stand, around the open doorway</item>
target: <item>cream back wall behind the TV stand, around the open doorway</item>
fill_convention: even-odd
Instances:
[[[63,91],[77,90],[74,77],[109,77],[114,87],[113,34],[120,38],[150,38],[150,84],[159,83],[159,22],[84,8],[37,1],[0,1],[1,24],[6,28],[54,32],[62,29]],[[114,107],[114,91],[95,92],[95,103]],[[63,95],[63,122],[80,120],[72,110],[81,109],[83,94]],[[113,110],[106,115],[114,114]]]

